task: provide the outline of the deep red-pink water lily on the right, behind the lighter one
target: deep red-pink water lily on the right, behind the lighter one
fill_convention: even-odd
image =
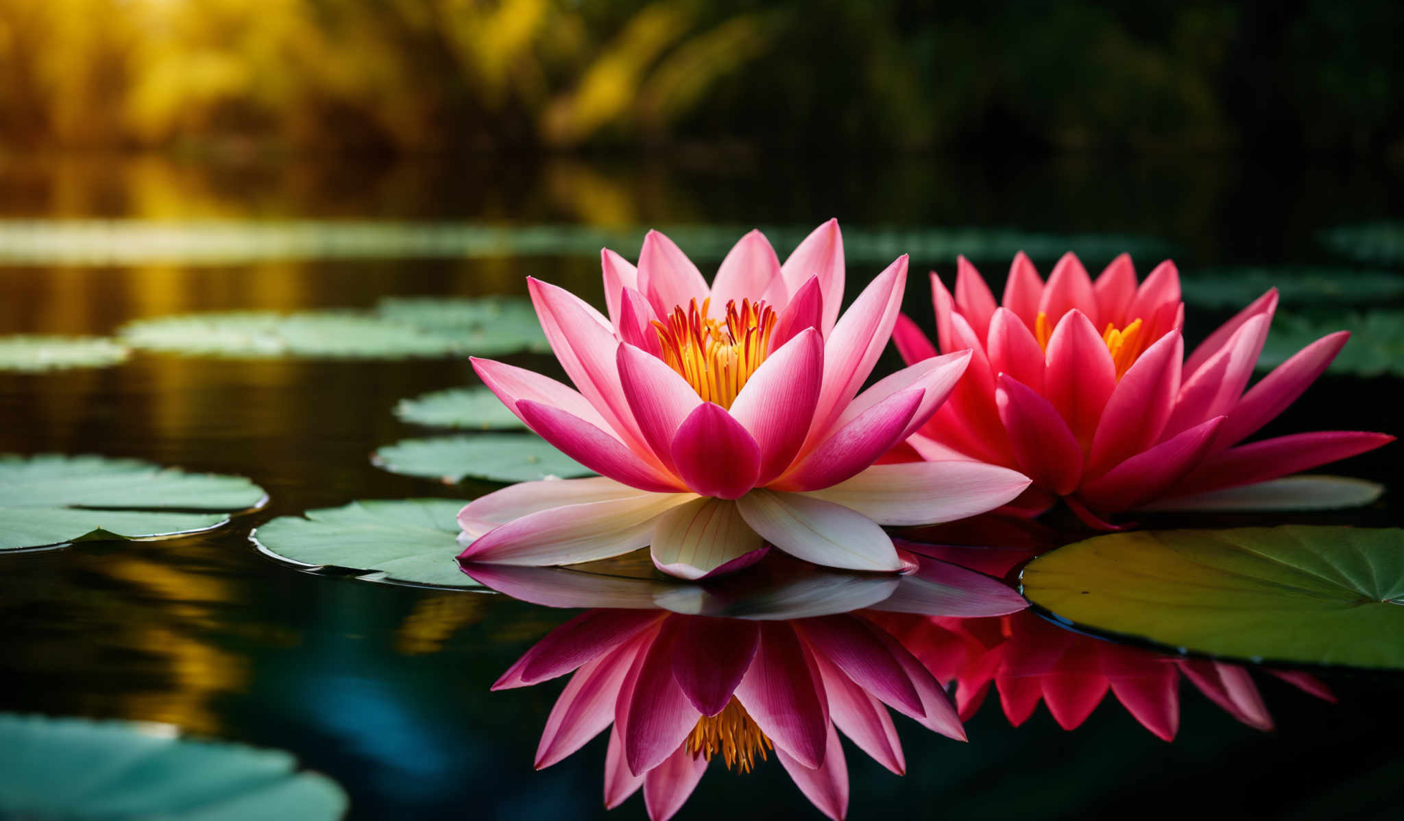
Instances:
[[[1129,256],[1094,283],[1071,253],[1047,283],[1014,257],[1004,304],[959,261],[955,297],[931,274],[941,350],[970,350],[965,378],[907,440],[922,458],[973,458],[1033,479],[1047,508],[1061,496],[1090,524],[1163,499],[1212,502],[1216,491],[1265,482],[1391,441],[1316,432],[1241,444],[1310,385],[1345,344],[1328,335],[1248,380],[1278,304],[1268,291],[1184,356],[1179,274],[1161,263],[1137,285]],[[936,349],[903,316],[903,358]],[[1032,489],[1031,489],[1032,491]]]

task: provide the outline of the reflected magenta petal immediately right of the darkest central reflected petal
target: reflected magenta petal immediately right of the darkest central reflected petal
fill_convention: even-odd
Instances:
[[[814,679],[804,647],[785,621],[762,621],[761,641],[736,697],[761,732],[807,768],[824,762],[828,724],[823,685]]]

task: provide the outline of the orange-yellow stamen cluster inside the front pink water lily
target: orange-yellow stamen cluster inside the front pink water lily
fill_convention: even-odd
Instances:
[[[712,301],[673,309],[665,322],[653,322],[663,347],[663,361],[692,385],[706,402],[730,408],[736,395],[765,361],[776,313],[765,302],[726,304],[726,318],[710,319]]]

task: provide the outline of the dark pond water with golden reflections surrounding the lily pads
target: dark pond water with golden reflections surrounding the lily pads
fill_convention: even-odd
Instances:
[[[842,170],[834,170],[835,164]],[[1255,166],[1241,157],[960,163],[908,160],[726,167],[552,163],[475,169],[247,167],[156,160],[0,164],[8,216],[473,218],[849,225],[987,225],[1160,236],[1181,270],[1220,261],[1310,263],[1313,232],[1398,218],[1396,169]],[[783,253],[785,249],[782,249]],[[1088,260],[1090,267],[1106,260]],[[1153,260],[1137,260],[1141,273]],[[913,260],[914,270],[952,260]],[[849,264],[848,294],[880,266]],[[993,267],[993,271],[1000,269]],[[0,269],[0,333],[108,333],[197,309],[371,305],[383,295],[524,292],[522,278],[598,301],[591,259]],[[913,277],[907,309],[929,326]],[[1210,321],[1203,325],[1210,325]],[[1192,329],[1193,330],[1193,326]],[[890,354],[889,354],[890,356]],[[518,364],[559,373],[546,357]],[[879,373],[889,360],[879,364]],[[351,499],[472,498],[373,468],[376,446],[423,433],[395,402],[470,384],[465,361],[225,361],[136,354],[124,366],[0,374],[0,451],[131,455],[241,474],[271,505],[215,534],[14,554],[0,574],[0,710],[166,721],[292,751],[338,780],[355,818],[604,817],[604,739],[543,772],[532,754],[560,683],[489,693],[569,613],[504,596],[375,585],[291,571],[256,552],[250,527]],[[1390,380],[1330,377],[1266,433],[1398,433]],[[1397,446],[1339,471],[1384,481],[1370,512],[1398,523]],[[1328,704],[1259,678],[1276,731],[1224,714],[1188,683],[1165,744],[1108,697],[1066,732],[1040,709],[1012,728],[987,703],[958,744],[897,720],[908,772],[849,748],[851,815],[1390,817],[1404,765],[1404,682],[1328,672]],[[637,818],[639,799],[611,817]],[[713,766],[681,818],[817,817],[779,766]]]

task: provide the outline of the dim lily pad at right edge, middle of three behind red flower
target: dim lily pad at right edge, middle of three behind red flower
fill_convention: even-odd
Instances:
[[[1238,309],[1276,288],[1282,305],[1370,305],[1404,297],[1404,276],[1349,269],[1209,269],[1181,280],[1185,302]]]

